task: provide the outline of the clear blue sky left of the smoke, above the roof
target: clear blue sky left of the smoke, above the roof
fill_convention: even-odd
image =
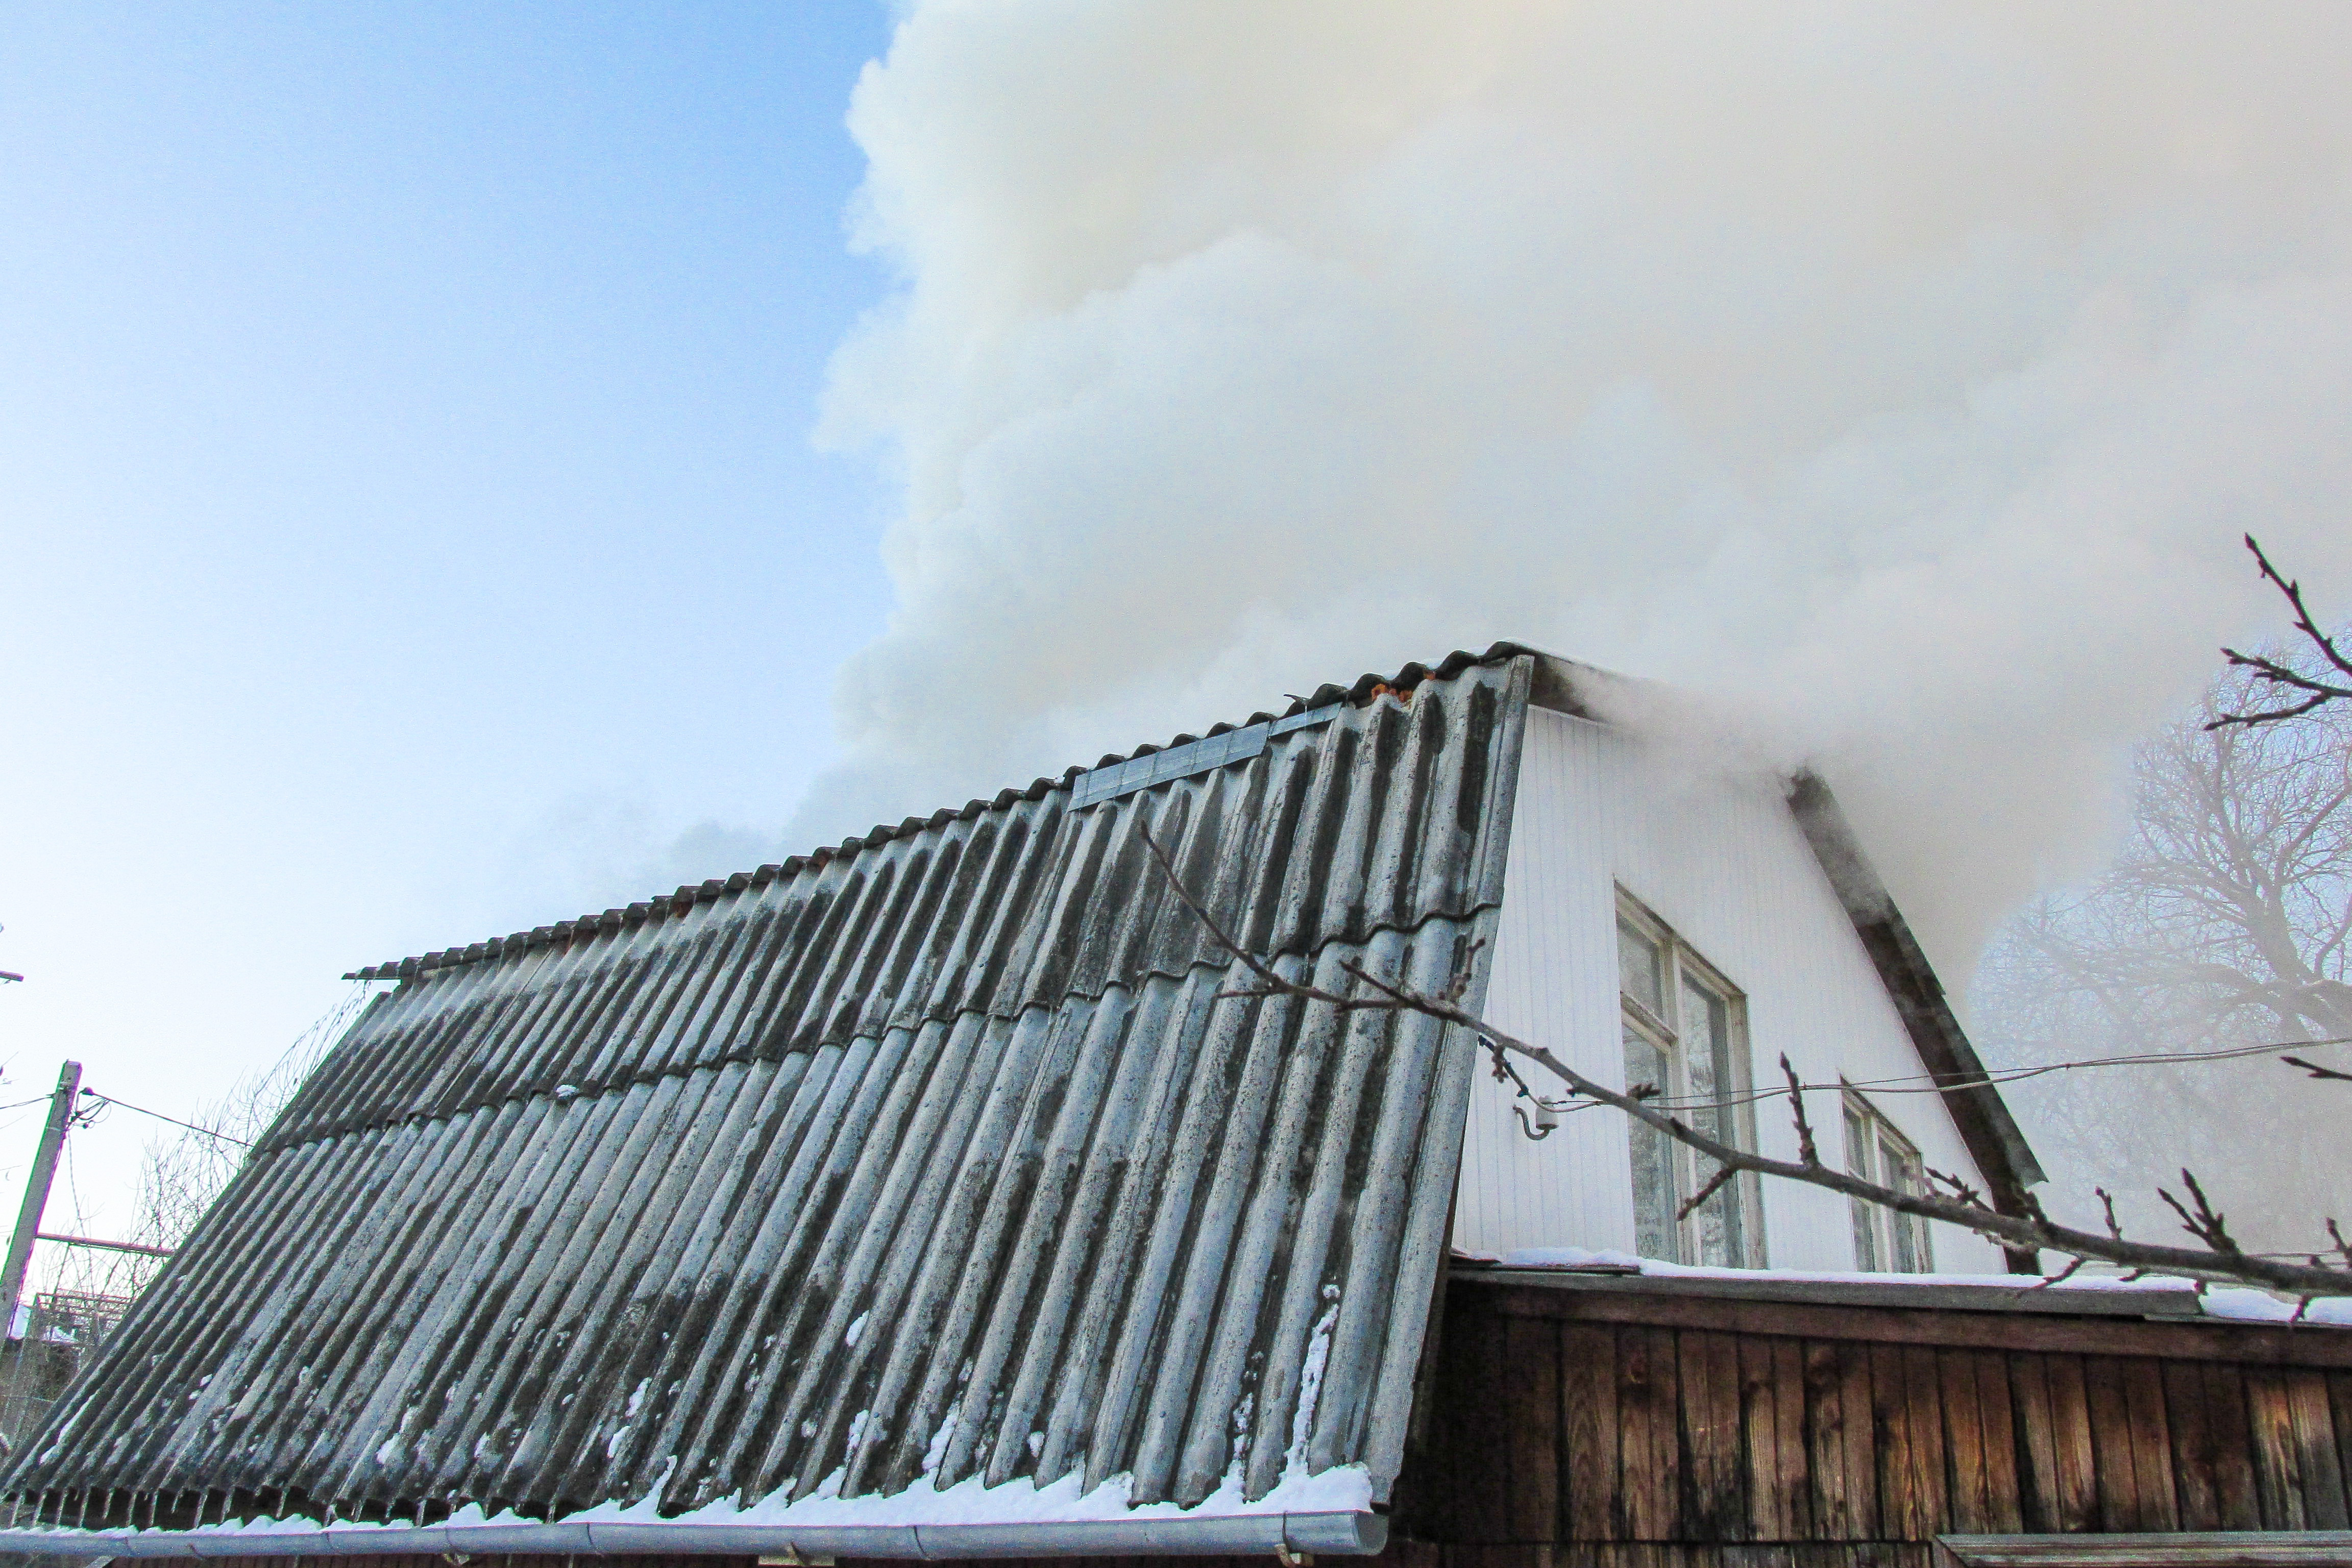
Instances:
[[[887,35],[12,7],[7,1098],[75,1056],[186,1112],[355,964],[781,853],[889,604],[877,470],[809,444],[889,282],[842,216]],[[87,1201],[151,1131],[80,1140]]]

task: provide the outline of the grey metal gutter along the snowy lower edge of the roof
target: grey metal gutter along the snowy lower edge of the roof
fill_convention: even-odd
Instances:
[[[924,1526],[727,1523],[468,1523],[329,1526],[325,1530],[0,1530],[0,1552],[28,1556],[395,1556],[395,1554],[729,1554],[729,1556],[1371,1556],[1381,1514],[1225,1514],[1216,1519],[1084,1519]]]

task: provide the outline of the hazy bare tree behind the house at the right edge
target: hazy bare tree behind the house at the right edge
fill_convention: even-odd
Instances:
[[[2006,1063],[2352,1037],[2352,686],[2288,599],[2300,642],[2239,654],[2201,712],[2133,757],[2131,827],[2091,884],[2037,900],[1987,952],[1978,1034]],[[2291,703],[2277,703],[2279,691]],[[2263,1246],[2310,1246],[2347,1190],[2345,1091],[2272,1063],[2152,1063],[2051,1077],[2018,1098],[2060,1166],[2119,1190],[2124,1218],[2171,1215],[2154,1190],[2206,1173]]]

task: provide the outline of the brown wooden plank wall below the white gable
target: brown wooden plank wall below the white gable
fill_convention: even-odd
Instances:
[[[2352,1528],[2352,1368],[1771,1335],[1691,1326],[1689,1312],[1606,1321],[1625,1309],[1573,1298],[1534,1316],[1538,1295],[1569,1298],[1451,1288],[1402,1535],[1924,1544]],[[1983,1338],[1983,1314],[1966,1316],[1978,1321],[1959,1338]],[[2042,1321],[2016,1316],[2018,1342]],[[2152,1331],[2119,1340],[2161,1345]]]

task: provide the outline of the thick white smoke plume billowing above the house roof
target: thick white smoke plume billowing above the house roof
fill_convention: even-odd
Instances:
[[[2338,0],[915,5],[826,421],[903,465],[898,609],[795,839],[1519,637],[1769,715],[1964,969],[2274,623],[2241,529],[2352,590],[2347,56]]]

